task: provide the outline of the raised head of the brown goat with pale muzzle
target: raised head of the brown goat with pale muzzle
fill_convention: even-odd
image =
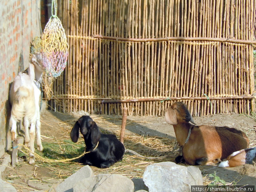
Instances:
[[[183,102],[175,102],[171,107],[168,107],[165,113],[165,120],[171,125],[188,122],[195,124],[192,115],[188,111],[188,106]]]

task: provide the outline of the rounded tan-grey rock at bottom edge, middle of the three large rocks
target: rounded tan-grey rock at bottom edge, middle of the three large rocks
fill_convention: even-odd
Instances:
[[[134,192],[133,182],[119,174],[102,173],[74,185],[74,192]]]

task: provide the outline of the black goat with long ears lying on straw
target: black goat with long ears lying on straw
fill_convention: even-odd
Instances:
[[[108,168],[115,162],[122,160],[125,148],[116,135],[102,134],[97,124],[90,116],[80,117],[71,130],[70,137],[73,142],[78,141],[80,132],[84,137],[86,153],[80,162],[98,168]]]

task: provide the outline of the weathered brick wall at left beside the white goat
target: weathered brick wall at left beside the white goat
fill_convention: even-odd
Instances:
[[[8,0],[0,6],[0,157],[10,148],[8,91],[29,64],[30,42],[40,35],[41,0]]]

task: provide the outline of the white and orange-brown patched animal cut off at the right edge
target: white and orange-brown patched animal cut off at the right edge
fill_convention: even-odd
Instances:
[[[226,160],[219,164],[219,167],[236,167],[244,164],[252,164],[256,157],[256,147],[242,149],[229,155]]]

